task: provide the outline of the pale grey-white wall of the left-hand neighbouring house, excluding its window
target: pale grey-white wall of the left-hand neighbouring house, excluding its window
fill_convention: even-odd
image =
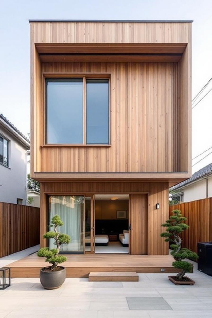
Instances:
[[[26,204],[26,151],[16,138],[0,127],[0,135],[9,142],[9,168],[0,164],[0,201],[17,203],[17,198]]]

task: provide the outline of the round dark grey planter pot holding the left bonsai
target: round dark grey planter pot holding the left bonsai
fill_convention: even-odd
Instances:
[[[63,269],[57,272],[45,272],[44,269],[46,267],[41,268],[40,282],[45,289],[56,289],[56,288],[59,288],[64,283],[65,277],[66,277],[66,271],[65,271],[65,267],[63,266],[60,266],[60,267]]]

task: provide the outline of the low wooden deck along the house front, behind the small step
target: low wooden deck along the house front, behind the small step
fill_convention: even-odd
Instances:
[[[66,255],[63,264],[67,277],[88,277],[90,272],[176,273],[171,255],[85,254]],[[29,255],[14,263],[11,277],[39,277],[41,267],[48,266],[37,254]]]

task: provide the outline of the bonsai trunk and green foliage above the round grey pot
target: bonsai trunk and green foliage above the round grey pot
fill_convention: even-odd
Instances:
[[[57,248],[52,248],[51,250],[48,247],[44,247],[39,249],[37,255],[38,257],[45,257],[46,262],[49,262],[51,265],[51,270],[53,271],[58,264],[63,263],[66,261],[66,257],[63,255],[58,255],[60,250],[61,244],[68,244],[70,242],[70,236],[68,234],[60,233],[57,230],[58,226],[62,226],[63,222],[61,221],[60,217],[56,214],[51,219],[50,226],[54,227],[54,231],[46,232],[43,237],[44,239],[54,239],[55,245]]]

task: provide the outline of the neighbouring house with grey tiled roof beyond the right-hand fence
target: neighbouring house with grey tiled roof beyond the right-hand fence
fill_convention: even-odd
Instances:
[[[189,202],[212,197],[212,163],[195,172],[190,179],[170,188],[171,197],[180,202]]]

